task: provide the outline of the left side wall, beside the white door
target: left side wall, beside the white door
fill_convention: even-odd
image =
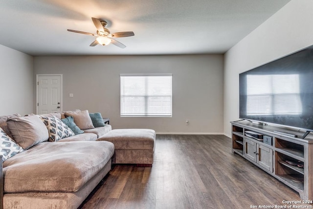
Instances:
[[[33,57],[0,45],[0,77],[0,116],[33,113]]]

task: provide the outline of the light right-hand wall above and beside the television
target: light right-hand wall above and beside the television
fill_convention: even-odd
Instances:
[[[224,55],[224,133],[239,118],[239,73],[313,45],[313,0],[291,0]]]

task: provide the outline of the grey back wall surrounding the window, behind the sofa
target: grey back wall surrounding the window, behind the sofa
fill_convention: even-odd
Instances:
[[[221,134],[223,63],[223,55],[47,56],[35,57],[34,70],[63,74],[63,110],[100,112],[114,129]],[[120,117],[122,73],[172,73],[173,117]]]

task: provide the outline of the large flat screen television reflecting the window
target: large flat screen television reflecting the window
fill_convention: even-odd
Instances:
[[[239,74],[239,117],[313,132],[313,46]]]

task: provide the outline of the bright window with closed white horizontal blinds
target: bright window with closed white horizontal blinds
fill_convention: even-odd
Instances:
[[[121,74],[121,116],[172,116],[172,74]]]

